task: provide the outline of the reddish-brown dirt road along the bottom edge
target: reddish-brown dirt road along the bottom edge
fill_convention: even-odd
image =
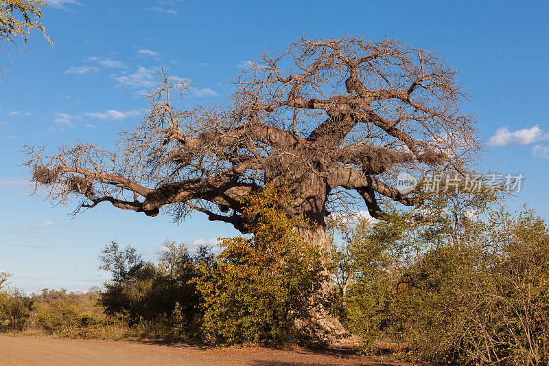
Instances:
[[[344,350],[205,349],[182,343],[0,336],[0,365],[402,365]]]

